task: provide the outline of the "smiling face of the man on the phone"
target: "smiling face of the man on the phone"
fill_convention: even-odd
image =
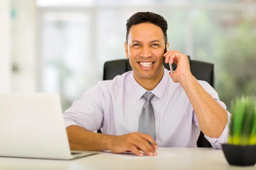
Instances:
[[[141,23],[131,27],[125,53],[134,77],[154,79],[162,76],[164,52],[164,35],[159,26]]]

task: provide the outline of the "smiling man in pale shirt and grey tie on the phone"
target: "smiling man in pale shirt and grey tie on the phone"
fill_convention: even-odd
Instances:
[[[192,76],[185,54],[165,53],[166,20],[138,12],[126,27],[132,71],[98,82],[67,109],[70,148],[143,156],[141,150],[155,156],[158,147],[197,147],[200,129],[213,147],[221,148],[230,113],[207,82]],[[163,62],[175,62],[177,69],[171,74]],[[102,134],[93,132],[99,129]]]

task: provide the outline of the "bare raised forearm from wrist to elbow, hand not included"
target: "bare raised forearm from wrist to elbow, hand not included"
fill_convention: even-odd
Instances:
[[[219,138],[227,125],[227,111],[204,90],[192,74],[183,74],[180,85],[194,108],[202,132]]]

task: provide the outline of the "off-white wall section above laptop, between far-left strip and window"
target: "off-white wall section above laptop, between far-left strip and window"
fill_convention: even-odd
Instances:
[[[15,17],[11,21],[12,61],[19,72],[12,74],[13,92],[35,92],[36,69],[36,19],[35,0],[11,0]]]

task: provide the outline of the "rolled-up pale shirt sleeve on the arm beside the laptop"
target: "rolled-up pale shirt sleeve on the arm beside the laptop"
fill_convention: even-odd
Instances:
[[[78,125],[90,131],[99,130],[103,123],[102,103],[104,94],[98,84],[63,113],[65,127]]]

